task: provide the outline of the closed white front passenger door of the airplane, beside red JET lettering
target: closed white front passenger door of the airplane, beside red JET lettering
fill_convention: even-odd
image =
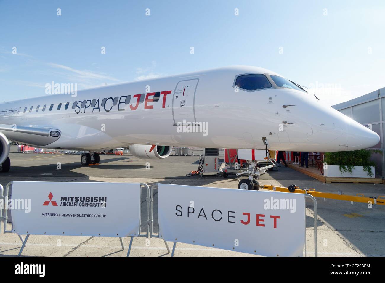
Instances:
[[[177,83],[172,97],[172,118],[177,122],[196,122],[194,100],[199,79],[181,80]]]

